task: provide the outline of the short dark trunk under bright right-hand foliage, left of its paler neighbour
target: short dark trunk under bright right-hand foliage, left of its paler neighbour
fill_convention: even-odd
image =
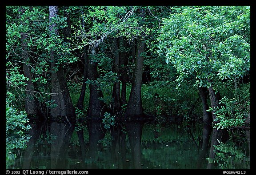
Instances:
[[[204,124],[211,124],[212,123],[212,114],[211,112],[208,112],[207,110],[209,109],[208,103],[207,103],[207,95],[208,95],[208,90],[207,88],[198,88],[199,95],[202,100],[202,105],[203,105],[203,121]]]

